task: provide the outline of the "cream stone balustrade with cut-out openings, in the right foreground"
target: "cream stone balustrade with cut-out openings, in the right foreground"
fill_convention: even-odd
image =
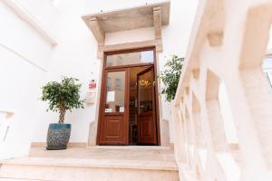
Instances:
[[[172,104],[180,180],[272,180],[272,90],[262,69],[271,21],[271,0],[199,1]]]

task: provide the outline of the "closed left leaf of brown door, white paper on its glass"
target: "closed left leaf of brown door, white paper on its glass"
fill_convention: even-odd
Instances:
[[[99,145],[128,145],[128,69],[104,71]]]

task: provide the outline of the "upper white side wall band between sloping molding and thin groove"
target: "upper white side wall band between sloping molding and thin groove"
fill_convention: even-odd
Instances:
[[[0,22],[3,24],[0,30],[1,45],[46,69],[51,56],[48,52],[52,51],[52,46],[46,43],[30,24],[16,15],[13,9],[4,3],[0,5]]]

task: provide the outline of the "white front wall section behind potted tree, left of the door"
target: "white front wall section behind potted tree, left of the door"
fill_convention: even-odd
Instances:
[[[99,65],[96,58],[97,45],[92,33],[81,19],[83,14],[83,0],[65,0],[58,9],[62,13],[59,24],[58,45],[53,50],[52,62],[45,81],[59,81],[63,76],[78,78],[83,84],[82,98],[86,96],[88,82],[93,76],[97,77]],[[96,105],[86,105],[84,110],[67,112],[65,121],[72,123],[71,142],[87,142],[90,122],[95,118]],[[44,112],[36,127],[34,142],[45,142],[49,123],[58,122],[58,114],[45,112],[47,104],[44,102]]]

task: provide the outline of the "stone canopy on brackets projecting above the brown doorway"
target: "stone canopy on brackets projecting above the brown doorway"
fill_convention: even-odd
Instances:
[[[97,21],[102,27],[102,31],[104,33],[114,33],[124,30],[153,26],[153,11],[157,11],[158,7],[160,7],[161,11],[161,25],[169,24],[170,1],[165,1],[164,3],[142,5],[111,12],[102,12],[98,14],[85,14],[82,16],[82,18],[89,28],[92,26],[90,22]]]

